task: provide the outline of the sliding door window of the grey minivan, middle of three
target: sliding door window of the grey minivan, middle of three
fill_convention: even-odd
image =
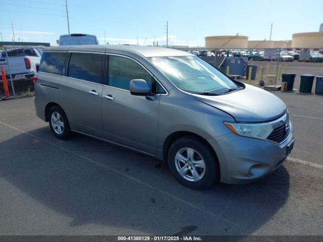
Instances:
[[[72,53],[68,76],[95,83],[101,83],[103,54]]]

